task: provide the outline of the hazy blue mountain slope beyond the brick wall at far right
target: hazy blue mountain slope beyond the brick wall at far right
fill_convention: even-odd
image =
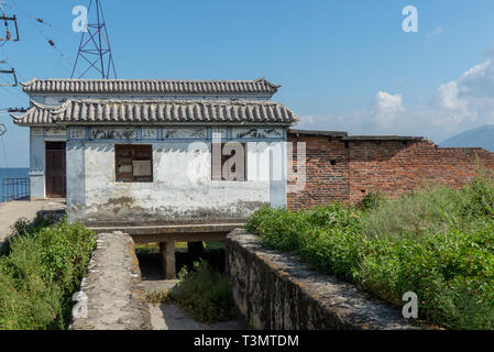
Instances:
[[[442,143],[443,147],[483,147],[494,152],[494,124],[485,124],[480,128],[457,134]]]

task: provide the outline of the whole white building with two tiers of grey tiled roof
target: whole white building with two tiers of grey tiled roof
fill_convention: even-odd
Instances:
[[[14,122],[31,130],[31,198],[66,197],[70,220],[244,219],[286,205],[283,142],[298,118],[271,100],[278,86],[265,79],[33,79],[23,89],[32,106]]]

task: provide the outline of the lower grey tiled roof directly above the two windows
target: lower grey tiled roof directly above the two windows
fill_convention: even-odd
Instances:
[[[35,105],[14,119],[20,125],[75,124],[282,124],[298,117],[273,101],[232,100],[67,100],[54,109]]]

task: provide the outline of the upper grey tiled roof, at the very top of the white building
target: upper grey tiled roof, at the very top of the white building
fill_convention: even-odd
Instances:
[[[271,95],[279,86],[256,80],[39,79],[22,84],[29,94]]]

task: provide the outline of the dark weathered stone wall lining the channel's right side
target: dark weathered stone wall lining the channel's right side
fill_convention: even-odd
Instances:
[[[292,255],[261,248],[257,237],[244,230],[228,237],[227,273],[238,308],[256,329],[422,328],[402,318],[399,307],[315,273]]]

